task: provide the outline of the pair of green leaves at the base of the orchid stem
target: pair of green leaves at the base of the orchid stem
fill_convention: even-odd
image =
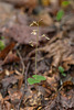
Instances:
[[[33,84],[39,84],[41,82],[42,80],[46,80],[46,78],[44,76],[41,76],[41,75],[33,75],[32,76],[33,78],[28,78],[28,82],[30,85],[33,85]]]

